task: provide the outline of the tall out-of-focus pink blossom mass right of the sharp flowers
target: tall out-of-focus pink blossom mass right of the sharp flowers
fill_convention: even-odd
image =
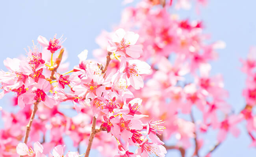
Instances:
[[[217,131],[217,140],[211,142],[213,146],[223,142],[228,133],[238,137],[237,124],[243,116],[231,113],[222,76],[210,74],[210,61],[217,59],[216,50],[224,48],[225,43],[205,44],[209,43],[209,36],[202,33],[202,21],[182,20],[170,14],[168,7],[154,5],[143,0],[126,8],[119,27],[140,36],[138,44],[143,53],[139,60],[148,62],[152,73],[145,76],[144,88],[131,90],[135,97],[143,99],[142,108],[150,115],[148,119],[165,120],[166,130],[160,139],[169,141],[173,136],[176,139],[173,145],[165,147],[177,150],[194,147],[197,155],[204,143],[209,143],[203,139],[209,130]],[[97,38],[101,49],[94,51],[96,58],[104,59],[109,47],[102,43],[112,34],[104,31]],[[118,56],[121,55],[114,56],[117,61],[108,71],[120,67]],[[194,117],[193,112],[200,116]]]

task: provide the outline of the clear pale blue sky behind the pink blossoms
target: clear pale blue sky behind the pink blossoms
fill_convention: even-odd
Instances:
[[[249,47],[256,45],[256,1],[253,0],[209,0],[201,14],[195,11],[179,11],[182,18],[201,19],[206,27],[205,32],[211,34],[211,41],[224,40],[226,48],[219,51],[219,60],[212,62],[212,73],[222,73],[225,88],[230,93],[228,102],[234,112],[240,111],[245,104],[241,96],[245,86],[245,75],[239,71],[239,58],[245,58]],[[6,70],[2,60],[7,57],[18,57],[24,54],[24,48],[32,45],[38,35],[52,38],[67,38],[64,45],[69,52],[70,66],[79,61],[78,53],[83,49],[91,52],[98,48],[95,37],[103,30],[111,31],[118,24],[124,6],[121,0],[23,0],[0,2],[0,69]],[[0,100],[0,106],[9,104],[8,99]],[[241,125],[242,126],[242,125]],[[0,127],[2,127],[0,122]],[[240,127],[242,128],[242,127]],[[231,135],[213,153],[213,157],[252,157],[255,148],[248,148],[250,139],[244,128],[242,134],[235,139]],[[211,137],[214,140],[215,138]],[[69,141],[69,140],[67,140]],[[70,144],[68,144],[70,145]],[[206,150],[205,150],[206,151]],[[176,156],[178,153],[172,153]],[[98,156],[94,154],[95,156]],[[93,154],[91,155],[93,156]]]

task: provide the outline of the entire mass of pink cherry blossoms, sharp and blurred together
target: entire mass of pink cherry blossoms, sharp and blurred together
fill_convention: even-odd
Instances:
[[[207,0],[194,2],[198,11]],[[164,157],[168,149],[184,157],[192,148],[192,156],[210,157],[228,133],[239,136],[237,124],[244,120],[251,146],[256,146],[256,50],[241,60],[248,76],[243,90],[247,104],[234,114],[222,76],[211,75],[210,62],[224,42],[209,44],[202,21],[180,19],[169,11],[189,9],[191,3],[141,0],[127,7],[119,26],[96,39],[96,60],[87,59],[84,50],[70,71],[65,39],[56,35],[50,40],[39,36],[26,57],[4,60],[8,71],[0,71],[0,99],[14,94],[13,106],[20,110],[0,107],[0,156],[88,157],[92,148],[106,157]],[[77,114],[69,117],[66,109]],[[204,154],[201,150],[209,144],[204,135],[212,130],[216,141]],[[65,137],[76,152],[65,153]],[[171,145],[164,143],[171,139]]]

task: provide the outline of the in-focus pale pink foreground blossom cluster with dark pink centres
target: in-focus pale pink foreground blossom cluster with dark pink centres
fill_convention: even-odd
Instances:
[[[54,146],[64,144],[63,134],[69,135],[75,146],[83,141],[87,143],[88,139],[89,145],[92,135],[96,134],[94,147],[101,148],[102,152],[102,148],[112,147],[120,157],[165,156],[164,143],[157,136],[165,129],[163,121],[142,122],[141,119],[147,117],[140,111],[142,100],[134,98],[129,89],[130,86],[134,90],[143,88],[143,75],[151,73],[147,62],[137,59],[142,53],[141,46],[136,44],[138,38],[139,35],[134,32],[118,29],[108,40],[105,66],[87,60],[88,51],[84,50],[78,55],[79,64],[63,74],[59,71],[67,69],[67,65],[63,63],[66,51],[61,45],[62,37],[58,39],[54,36],[48,41],[39,36],[39,46],[29,48],[26,58],[4,60],[9,71],[1,71],[1,98],[9,92],[15,93],[15,105],[23,110],[16,115],[3,111],[8,125],[1,130],[1,141],[5,141],[1,146],[3,154],[13,152],[17,145],[19,155],[43,157]],[[108,72],[113,58],[118,58],[120,66],[116,71]],[[62,102],[72,102],[72,108],[79,114],[70,118],[61,113],[58,109]],[[17,128],[24,127],[31,120],[30,114],[38,116],[33,121],[28,142],[29,145],[35,142],[33,149],[26,145],[28,137],[25,137],[24,143],[17,144],[24,133],[24,130]],[[94,128],[90,131],[91,124]],[[38,142],[40,134],[45,137],[47,130],[50,130],[50,141],[43,139],[42,145]],[[61,145],[53,149],[54,157],[63,156],[64,146]],[[138,148],[132,153],[129,146]],[[79,153],[67,153],[67,156],[70,155],[78,157]]]

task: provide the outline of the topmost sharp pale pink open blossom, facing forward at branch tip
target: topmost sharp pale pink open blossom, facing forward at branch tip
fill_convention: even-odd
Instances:
[[[128,55],[132,58],[139,58],[142,47],[135,45],[139,38],[134,32],[125,32],[124,29],[117,29],[109,41],[108,51],[122,56]]]

